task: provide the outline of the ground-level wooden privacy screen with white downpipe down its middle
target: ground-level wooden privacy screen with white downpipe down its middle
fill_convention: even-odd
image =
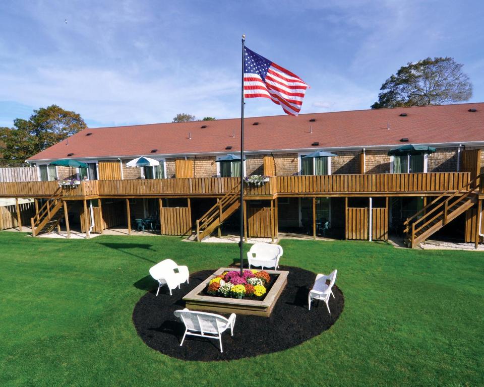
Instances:
[[[346,239],[369,239],[369,208],[348,207],[346,211]],[[372,209],[372,239],[388,240],[388,210],[386,208]]]

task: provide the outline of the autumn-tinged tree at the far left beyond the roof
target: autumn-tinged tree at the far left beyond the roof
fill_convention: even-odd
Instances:
[[[16,118],[14,127],[0,128],[5,161],[22,163],[25,159],[65,140],[87,127],[81,116],[57,105],[34,110],[28,120]]]

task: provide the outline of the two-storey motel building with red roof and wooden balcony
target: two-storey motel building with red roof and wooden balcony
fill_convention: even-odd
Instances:
[[[484,103],[246,118],[244,148],[237,118],[88,128],[2,168],[0,229],[483,240]]]

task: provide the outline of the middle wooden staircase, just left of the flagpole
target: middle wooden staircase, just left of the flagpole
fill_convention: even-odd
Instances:
[[[204,216],[197,220],[197,240],[199,242],[240,208],[239,192],[240,184],[234,186]]]

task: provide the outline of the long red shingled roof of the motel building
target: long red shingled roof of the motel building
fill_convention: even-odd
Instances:
[[[393,147],[401,145],[401,138],[413,144],[484,142],[484,103],[254,117],[245,119],[244,132],[248,152],[307,149],[313,142],[319,142],[318,149]],[[153,149],[161,155],[227,153],[227,146],[237,152],[239,134],[237,118],[88,128],[29,160],[65,158],[68,153],[73,158],[150,155]]]

